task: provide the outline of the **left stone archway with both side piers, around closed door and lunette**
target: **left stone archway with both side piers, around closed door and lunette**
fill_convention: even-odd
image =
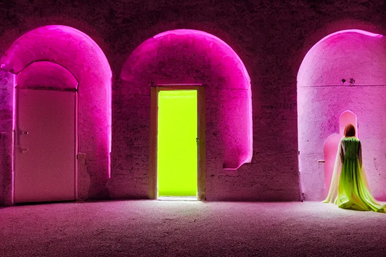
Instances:
[[[32,30],[17,39],[1,58],[3,92],[12,118],[2,120],[5,132],[3,202],[13,203],[12,131],[14,87],[17,75],[36,62],[53,62],[68,70],[78,81],[78,157],[86,160],[88,183],[78,181],[81,198],[108,196],[106,181],[110,177],[111,152],[111,79],[109,62],[101,48],[86,34],[66,26],[53,25]],[[27,68],[29,67],[29,68]],[[40,71],[48,69],[40,67]],[[44,72],[43,72],[44,73]],[[82,178],[78,178],[82,180]],[[89,185],[91,183],[91,185]]]

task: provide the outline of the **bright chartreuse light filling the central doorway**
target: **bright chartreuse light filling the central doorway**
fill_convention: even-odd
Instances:
[[[159,196],[196,196],[197,90],[158,93]]]

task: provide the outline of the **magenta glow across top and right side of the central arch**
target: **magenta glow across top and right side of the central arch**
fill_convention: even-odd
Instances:
[[[194,70],[194,75],[189,75],[186,69]],[[222,138],[219,140],[224,142],[224,147],[219,148],[226,149],[223,168],[236,170],[252,160],[250,78],[240,57],[224,41],[197,30],[160,33],[142,43],[130,55],[121,74],[124,87],[130,89],[133,84],[136,85],[133,92],[142,90],[139,86],[144,77],[147,78],[144,87],[151,80],[157,85],[209,82],[206,94],[217,90],[218,98],[224,99],[224,107],[220,111],[225,118],[220,119],[219,125],[222,126]],[[213,85],[219,81],[218,86]],[[210,119],[210,116],[207,118]],[[207,141],[210,136],[213,137],[208,135]]]

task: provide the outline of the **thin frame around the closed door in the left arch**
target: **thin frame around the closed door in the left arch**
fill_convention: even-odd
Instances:
[[[13,144],[13,167],[14,167],[14,172],[13,172],[13,195],[12,195],[12,200],[14,203],[16,203],[15,199],[15,189],[16,189],[16,176],[15,173],[16,171],[16,151],[19,151],[19,95],[20,95],[20,90],[27,89],[27,90],[45,90],[45,91],[62,91],[62,92],[75,92],[74,97],[75,97],[75,106],[74,106],[74,111],[75,111],[75,127],[74,127],[74,132],[75,132],[75,155],[74,155],[74,199],[78,199],[78,160],[77,160],[77,153],[79,152],[78,149],[78,90],[77,89],[71,89],[71,90],[51,90],[51,89],[41,89],[41,88],[29,88],[29,87],[20,87],[18,85],[15,86],[15,127],[14,127],[14,144]]]

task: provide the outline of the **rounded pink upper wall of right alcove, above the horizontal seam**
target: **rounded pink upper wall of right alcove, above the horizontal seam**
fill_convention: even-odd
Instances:
[[[384,37],[355,31],[332,35],[307,53],[299,70],[298,86],[349,85],[350,78],[355,79],[355,85],[382,85],[386,82],[385,56]],[[307,98],[300,90],[300,100]]]

